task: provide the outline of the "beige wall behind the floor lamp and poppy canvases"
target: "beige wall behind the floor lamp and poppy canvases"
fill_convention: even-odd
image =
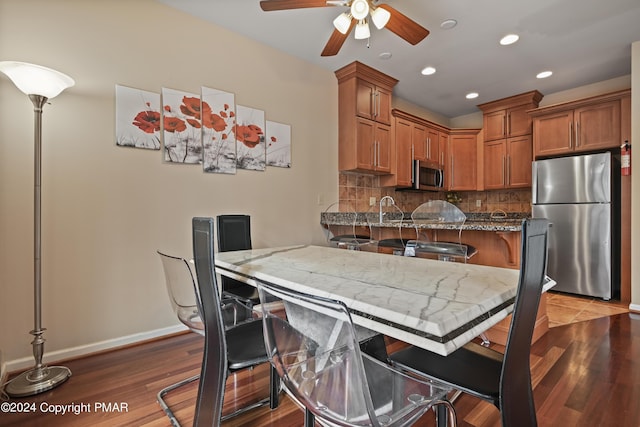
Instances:
[[[43,116],[50,358],[175,325],[155,251],[189,257],[193,216],[248,213],[255,247],[324,242],[318,196],[338,197],[331,71],[152,0],[2,0],[0,60],[45,65],[76,80]],[[205,174],[201,166],[163,163],[160,151],[117,147],[115,84],[233,92],[236,103],[291,125],[292,167]],[[0,123],[0,350],[28,366],[33,106],[4,75]]]

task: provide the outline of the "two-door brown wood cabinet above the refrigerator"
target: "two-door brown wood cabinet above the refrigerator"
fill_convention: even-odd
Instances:
[[[551,157],[616,148],[621,140],[621,99],[630,90],[537,108],[534,156]]]

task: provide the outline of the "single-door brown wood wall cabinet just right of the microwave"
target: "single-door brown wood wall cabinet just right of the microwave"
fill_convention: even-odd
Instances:
[[[475,191],[477,189],[479,131],[479,129],[451,130],[445,166],[447,190]]]

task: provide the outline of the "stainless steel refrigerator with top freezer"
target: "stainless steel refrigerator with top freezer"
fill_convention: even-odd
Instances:
[[[615,165],[611,153],[533,163],[533,217],[551,223],[547,275],[557,282],[554,291],[617,297],[620,214]]]

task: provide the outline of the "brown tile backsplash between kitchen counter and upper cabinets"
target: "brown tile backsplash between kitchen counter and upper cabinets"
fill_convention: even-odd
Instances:
[[[366,212],[378,210],[378,202],[384,196],[391,196],[404,212],[411,212],[420,204],[429,200],[446,200],[446,192],[396,191],[393,188],[381,188],[377,176],[356,173],[339,173],[340,210]],[[457,206],[463,212],[491,213],[496,210],[505,212],[531,213],[531,189],[461,191],[457,192],[460,201]],[[370,206],[371,197],[375,197],[375,206]],[[477,201],[480,200],[480,206]]]

